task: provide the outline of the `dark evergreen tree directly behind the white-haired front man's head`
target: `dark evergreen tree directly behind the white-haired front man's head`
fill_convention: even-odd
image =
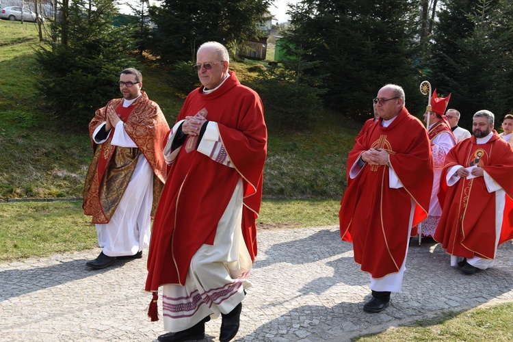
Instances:
[[[150,8],[157,29],[152,51],[166,62],[194,61],[200,44],[215,40],[231,55],[248,38],[259,36],[258,25],[269,0],[164,0]]]

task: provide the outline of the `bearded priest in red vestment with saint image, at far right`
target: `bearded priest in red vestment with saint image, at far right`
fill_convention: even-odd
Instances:
[[[492,267],[497,246],[513,239],[513,150],[494,119],[488,110],[474,114],[473,136],[449,152],[440,179],[434,239],[466,274]]]

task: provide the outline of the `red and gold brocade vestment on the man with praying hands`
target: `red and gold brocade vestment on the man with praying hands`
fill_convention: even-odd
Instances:
[[[122,108],[123,98],[109,101],[96,111],[89,124],[94,150],[83,191],[83,210],[92,215],[94,224],[108,223],[131,179],[137,160],[142,153],[153,169],[152,217],[166,181],[166,163],[163,146],[169,133],[168,122],[157,103],[150,101],[145,92],[132,105]],[[114,129],[102,144],[93,140],[94,130],[106,121],[107,111],[114,110],[124,122],[124,131],[137,148],[111,145]]]

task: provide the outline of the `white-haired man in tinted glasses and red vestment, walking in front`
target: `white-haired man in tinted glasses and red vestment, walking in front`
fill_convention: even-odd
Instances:
[[[219,340],[230,341],[257,254],[257,230],[267,129],[259,95],[228,70],[230,57],[206,42],[193,90],[164,149],[170,165],[153,224],[146,291],[157,320],[163,286],[164,329],[159,341],[205,339],[205,323],[222,317]]]

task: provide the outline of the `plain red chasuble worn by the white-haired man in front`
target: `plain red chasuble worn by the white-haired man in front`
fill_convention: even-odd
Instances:
[[[185,285],[192,256],[202,244],[213,244],[215,231],[239,179],[244,186],[242,234],[252,260],[257,255],[255,220],[260,210],[267,128],[256,92],[242,86],[234,73],[222,86],[187,96],[177,122],[202,112],[217,122],[231,168],[196,150],[187,137],[171,164],[155,214],[148,254],[146,291],[165,284]]]

